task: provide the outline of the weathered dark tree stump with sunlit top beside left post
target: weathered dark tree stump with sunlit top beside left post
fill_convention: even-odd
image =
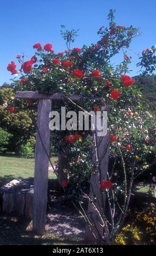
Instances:
[[[1,206],[4,214],[15,214],[32,218],[34,185],[27,180],[12,180],[0,189]]]

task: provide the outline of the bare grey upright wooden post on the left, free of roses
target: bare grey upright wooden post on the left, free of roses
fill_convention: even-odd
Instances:
[[[38,130],[36,134],[34,202],[33,202],[33,212],[32,212],[32,227],[35,233],[37,233],[38,235],[43,235],[45,225],[46,225],[48,166],[49,166],[49,159],[46,154],[46,151],[49,154],[49,145],[50,145],[49,113],[50,111],[51,111],[51,99],[46,99],[46,100],[40,99],[38,101],[38,113],[37,113]]]

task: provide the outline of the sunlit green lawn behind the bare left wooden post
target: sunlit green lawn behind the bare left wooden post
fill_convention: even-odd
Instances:
[[[52,157],[51,161],[57,161],[57,157]],[[24,159],[15,155],[0,156],[0,185],[12,179],[22,177],[24,179],[34,178],[34,159]],[[49,179],[56,179],[53,172],[49,172]]]

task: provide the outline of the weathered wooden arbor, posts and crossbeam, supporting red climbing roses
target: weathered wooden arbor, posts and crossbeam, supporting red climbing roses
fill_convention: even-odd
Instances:
[[[37,133],[36,133],[36,149],[35,149],[35,176],[34,176],[34,199],[33,199],[33,213],[32,213],[32,227],[36,234],[43,235],[46,225],[46,212],[47,212],[47,191],[48,191],[48,166],[49,166],[49,148],[50,148],[50,130],[49,130],[49,113],[51,111],[51,103],[53,100],[61,100],[64,95],[61,93],[56,94],[40,94],[38,92],[16,92],[17,99],[35,99],[38,100],[37,111]],[[72,101],[78,101],[82,97],[73,95],[69,97]],[[98,132],[95,129],[94,136]],[[103,154],[103,148],[106,148],[107,135],[99,137],[98,143],[94,145],[95,156],[101,156]],[[108,147],[105,150],[105,156],[100,161],[99,168],[102,170],[101,178],[105,180],[108,170]],[[93,160],[96,162],[96,157]],[[98,177],[98,176],[97,176]],[[97,178],[96,177],[96,178]],[[92,182],[92,189],[90,189],[90,197],[93,194],[99,196],[99,191],[94,190],[93,185],[96,182],[96,186],[100,182],[93,176],[90,180]],[[94,209],[89,202],[88,216],[90,220],[96,220]],[[103,231],[101,230],[101,234]],[[93,232],[87,228],[87,239],[90,240]]]

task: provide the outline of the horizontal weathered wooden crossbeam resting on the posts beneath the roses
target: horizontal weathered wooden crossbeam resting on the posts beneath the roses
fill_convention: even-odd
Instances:
[[[47,93],[38,93],[38,92],[23,92],[18,91],[15,93],[17,99],[51,99],[51,100],[63,100],[63,97],[66,97],[63,93],[55,93],[55,94],[47,94]],[[81,99],[85,99],[86,97],[80,95],[71,95],[69,96],[70,100],[78,101]],[[100,97],[91,96],[92,99],[100,100]]]

